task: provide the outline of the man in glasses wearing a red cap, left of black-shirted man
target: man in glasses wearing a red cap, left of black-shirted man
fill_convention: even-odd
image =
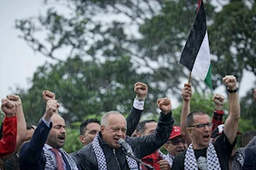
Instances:
[[[172,133],[164,146],[168,151],[168,154],[164,156],[164,160],[159,161],[160,169],[169,170],[172,167],[172,162],[175,156],[183,152],[183,150],[187,149],[188,147],[183,139],[180,127],[172,126]]]

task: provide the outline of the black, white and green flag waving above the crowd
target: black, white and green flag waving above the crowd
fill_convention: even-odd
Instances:
[[[204,4],[201,1],[194,26],[189,34],[189,39],[183,48],[180,63],[186,66],[192,75],[205,81],[212,88],[212,71],[210,47],[207,34],[207,20]]]

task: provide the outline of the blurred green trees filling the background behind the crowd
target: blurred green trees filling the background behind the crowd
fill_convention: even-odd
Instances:
[[[45,14],[15,21],[20,38],[52,59],[38,67],[28,82],[31,88],[17,87],[14,92],[23,101],[27,122],[38,123],[45,110],[42,92],[51,90],[67,123],[65,149],[77,150],[81,147],[79,122],[100,118],[110,110],[127,115],[135,97],[134,83],[145,82],[148,97],[143,119],[157,119],[155,102],[167,96],[177,99],[173,117],[179,124],[180,94],[189,71],[178,61],[195,20],[197,1],[45,0],[44,5],[49,6]],[[208,0],[205,7],[213,90],[223,86],[226,74],[235,75],[239,87],[243,71],[256,75],[255,2]],[[191,83],[191,111],[203,110],[212,116],[209,89],[196,77]],[[239,130],[255,129],[253,91],[240,100]],[[226,104],[226,113],[227,108]]]

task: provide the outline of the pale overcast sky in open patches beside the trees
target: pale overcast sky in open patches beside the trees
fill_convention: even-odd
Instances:
[[[29,88],[27,79],[32,79],[33,72],[39,65],[43,65],[46,58],[41,54],[35,54],[25,41],[18,37],[19,31],[15,30],[15,19],[44,14],[45,7],[40,0],[1,0],[0,1],[0,99],[14,90],[15,86]],[[211,48],[211,47],[210,47]],[[256,77],[252,73],[246,73],[241,82],[240,96],[249,88],[256,88],[253,82]],[[223,88],[215,90],[221,92]]]

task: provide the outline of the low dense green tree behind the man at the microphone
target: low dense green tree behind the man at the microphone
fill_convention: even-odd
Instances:
[[[39,67],[32,78],[32,88],[28,91],[17,89],[17,93],[23,101],[26,121],[37,123],[45,111],[43,91],[54,92],[61,104],[59,112],[68,125],[83,120],[84,116],[101,116],[111,110],[129,113],[135,98],[133,86],[138,80],[147,83],[147,75],[137,75],[129,57],[108,60],[104,64],[75,57]],[[149,92],[153,98],[158,94],[158,90],[151,88]],[[146,111],[155,111],[152,104],[155,101],[147,100]]]

